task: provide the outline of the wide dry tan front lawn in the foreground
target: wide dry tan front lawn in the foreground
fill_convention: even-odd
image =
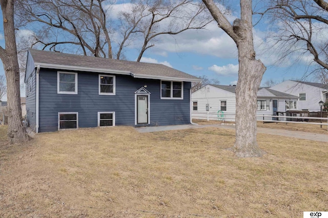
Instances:
[[[234,137],[218,128],[140,134],[114,127],[43,133],[25,146],[1,146],[8,156],[0,156],[0,217],[328,211],[326,144],[259,134],[268,154],[240,159],[225,150]]]

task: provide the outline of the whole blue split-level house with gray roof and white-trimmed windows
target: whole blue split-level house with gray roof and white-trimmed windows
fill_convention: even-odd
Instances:
[[[35,132],[191,123],[197,77],[162,64],[30,49],[26,111]]]

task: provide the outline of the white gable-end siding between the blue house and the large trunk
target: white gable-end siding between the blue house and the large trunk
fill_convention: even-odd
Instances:
[[[194,92],[192,94],[192,102],[197,102],[197,111],[192,111],[192,117],[195,119],[206,119],[206,104],[210,105],[210,117],[211,120],[218,120],[217,112],[221,110],[221,101],[227,102],[227,111],[224,113],[235,113],[236,112],[236,95],[235,93],[225,91],[213,86],[210,86],[210,92],[207,92],[208,86]],[[197,113],[201,112],[201,114]],[[215,114],[211,114],[215,113]],[[231,116],[230,116],[231,117]],[[235,121],[234,118],[225,116],[226,121]]]

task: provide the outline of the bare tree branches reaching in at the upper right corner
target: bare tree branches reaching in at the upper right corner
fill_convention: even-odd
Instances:
[[[278,45],[281,59],[310,55],[316,69],[328,70],[327,5],[324,0],[271,0],[264,12],[257,13],[270,16],[275,33],[269,38]]]

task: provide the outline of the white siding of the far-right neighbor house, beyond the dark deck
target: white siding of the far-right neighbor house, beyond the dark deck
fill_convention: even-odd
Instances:
[[[303,83],[287,80],[272,86],[271,89],[299,96],[300,93],[306,94],[305,101],[297,101],[298,110],[320,111],[319,102],[325,101],[322,94],[326,89],[318,88]]]

